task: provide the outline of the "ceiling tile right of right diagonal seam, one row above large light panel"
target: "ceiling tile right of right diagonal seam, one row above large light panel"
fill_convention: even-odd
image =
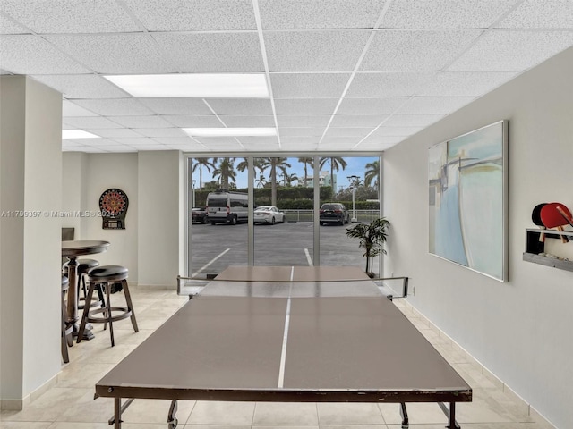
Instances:
[[[483,31],[378,31],[360,67],[362,71],[440,71]]]

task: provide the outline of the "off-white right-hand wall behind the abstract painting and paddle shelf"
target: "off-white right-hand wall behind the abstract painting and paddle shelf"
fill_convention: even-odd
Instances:
[[[573,427],[573,273],[522,260],[531,211],[573,207],[573,49],[389,149],[387,274],[408,275],[423,315],[554,425]],[[427,148],[509,120],[509,282],[428,254]],[[487,233],[487,231],[483,231]],[[553,246],[556,252],[569,250]],[[573,244],[569,244],[573,247]]]

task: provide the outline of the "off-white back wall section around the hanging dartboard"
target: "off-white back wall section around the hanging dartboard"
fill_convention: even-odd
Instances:
[[[80,167],[79,167],[80,165]],[[125,230],[103,230],[100,217],[64,218],[80,223],[76,239],[107,240],[106,253],[94,255],[101,265],[124,265],[129,281],[171,286],[183,273],[184,161],[179,151],[130,154],[64,153],[63,211],[98,212],[99,197],[109,188],[123,189],[129,198]],[[65,187],[65,185],[64,185]],[[67,226],[67,225],[66,225]]]

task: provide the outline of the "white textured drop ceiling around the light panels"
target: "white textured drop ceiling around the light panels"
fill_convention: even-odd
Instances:
[[[61,92],[64,151],[372,152],[573,45],[570,0],[2,0],[0,73]],[[261,73],[266,98],[103,76]],[[273,127],[190,137],[183,128]]]

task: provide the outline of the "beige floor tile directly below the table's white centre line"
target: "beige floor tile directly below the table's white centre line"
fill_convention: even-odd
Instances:
[[[318,425],[319,417],[314,403],[257,402],[253,425]]]

